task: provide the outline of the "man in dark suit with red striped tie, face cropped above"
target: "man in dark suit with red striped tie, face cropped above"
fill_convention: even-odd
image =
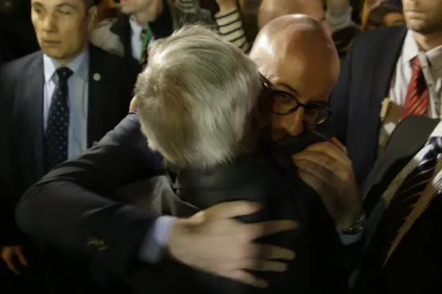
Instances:
[[[338,139],[348,149],[358,185],[398,121],[441,115],[442,1],[403,0],[407,28],[356,38],[331,96]]]

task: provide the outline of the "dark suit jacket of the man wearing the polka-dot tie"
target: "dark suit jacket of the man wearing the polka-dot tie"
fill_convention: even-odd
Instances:
[[[15,205],[24,191],[35,184],[45,173],[44,168],[44,66],[41,52],[32,53],[21,59],[7,63],[0,68],[0,196],[1,234],[0,243],[28,244],[15,224]],[[88,93],[88,147],[99,141],[109,130],[125,117],[131,101],[133,84],[140,66],[137,63],[124,62],[122,58],[90,47],[89,93]],[[101,79],[95,81],[93,75],[99,73]],[[64,213],[59,210],[58,213]],[[53,283],[59,283],[64,290],[55,287],[55,293],[70,286],[81,288],[79,273],[73,269],[76,256],[59,254],[42,242],[32,241],[29,248],[37,250],[35,257],[44,257],[45,270],[37,260],[33,263],[38,271],[50,275]],[[28,254],[30,258],[32,253]],[[61,258],[69,258],[70,260]],[[60,271],[60,268],[66,268]],[[72,269],[70,273],[68,269]],[[75,282],[66,282],[65,275]],[[41,279],[42,280],[42,279]],[[49,284],[53,284],[50,282]],[[66,284],[66,286],[64,286]],[[78,289],[77,288],[77,289]],[[75,287],[70,290],[74,290]],[[50,291],[50,290],[47,290]]]

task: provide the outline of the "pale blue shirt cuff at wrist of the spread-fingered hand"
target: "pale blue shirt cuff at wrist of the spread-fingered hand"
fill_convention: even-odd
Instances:
[[[140,259],[142,262],[157,264],[161,261],[164,248],[169,241],[171,228],[177,217],[164,215],[158,217],[153,227],[146,233],[146,237],[140,247]]]

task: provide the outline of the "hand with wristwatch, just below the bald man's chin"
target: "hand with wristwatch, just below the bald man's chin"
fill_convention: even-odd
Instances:
[[[320,195],[338,228],[349,228],[361,217],[352,161],[338,139],[313,144],[293,155],[293,160],[300,178]]]

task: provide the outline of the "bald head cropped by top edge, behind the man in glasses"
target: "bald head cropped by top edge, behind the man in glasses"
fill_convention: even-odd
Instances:
[[[262,0],[258,13],[258,28],[287,14],[307,14],[317,21],[325,20],[321,0]]]

